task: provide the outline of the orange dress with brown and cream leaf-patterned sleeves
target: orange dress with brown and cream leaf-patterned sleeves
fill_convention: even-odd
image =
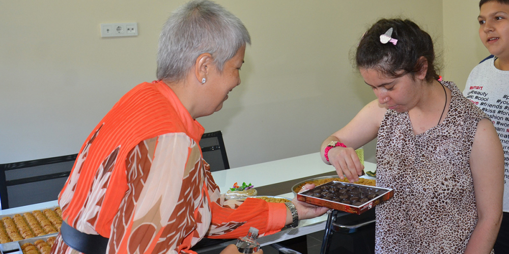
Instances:
[[[203,160],[203,127],[163,82],[134,87],[83,144],[59,195],[71,227],[109,238],[107,253],[194,253],[203,237],[285,226],[284,204],[225,201]],[[59,234],[52,254],[79,253]]]

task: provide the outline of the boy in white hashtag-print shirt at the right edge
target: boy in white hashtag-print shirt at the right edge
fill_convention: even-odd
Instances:
[[[509,0],[481,0],[479,9],[479,37],[494,57],[472,70],[463,94],[488,114],[502,142],[505,154],[503,218],[494,250],[495,253],[509,253]]]

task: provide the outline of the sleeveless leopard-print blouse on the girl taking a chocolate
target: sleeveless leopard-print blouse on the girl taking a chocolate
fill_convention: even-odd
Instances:
[[[453,82],[443,122],[414,135],[408,112],[387,110],[377,142],[377,185],[394,197],[376,207],[376,253],[463,253],[477,223],[469,158],[486,114]],[[493,251],[492,251],[493,253]]]

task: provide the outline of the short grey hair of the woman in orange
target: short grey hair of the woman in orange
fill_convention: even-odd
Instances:
[[[222,71],[224,63],[246,44],[251,44],[251,38],[239,18],[214,2],[190,1],[172,13],[161,31],[157,79],[184,79],[203,53],[210,53]]]

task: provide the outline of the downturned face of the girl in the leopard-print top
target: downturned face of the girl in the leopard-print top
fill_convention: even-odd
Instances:
[[[378,103],[399,113],[407,112],[419,101],[422,84],[407,74],[399,78],[387,78],[375,69],[360,68],[364,82],[371,86]]]

